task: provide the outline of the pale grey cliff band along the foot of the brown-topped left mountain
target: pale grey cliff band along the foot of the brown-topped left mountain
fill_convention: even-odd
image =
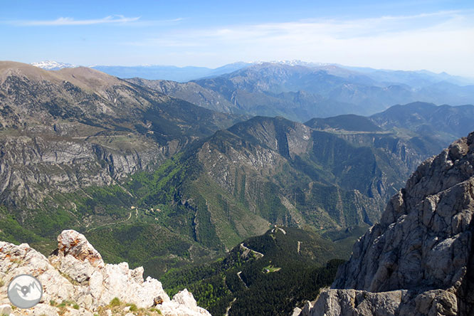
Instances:
[[[9,206],[34,207],[50,194],[112,184],[165,157],[163,147],[139,135],[128,137],[134,142],[127,149],[103,146],[94,142],[94,137],[88,141],[81,138],[85,137],[62,137],[54,132],[2,137],[1,201]]]

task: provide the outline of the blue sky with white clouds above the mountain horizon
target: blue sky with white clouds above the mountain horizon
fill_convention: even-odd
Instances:
[[[305,60],[474,77],[474,1],[0,0],[0,60]]]

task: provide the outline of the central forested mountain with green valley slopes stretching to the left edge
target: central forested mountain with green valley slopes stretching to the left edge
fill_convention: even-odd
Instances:
[[[3,234],[47,251],[45,238],[68,225],[106,260],[144,265],[159,277],[215,258],[273,224],[325,233],[372,224],[413,166],[436,150],[423,137],[254,117],[195,142],[153,172],[51,194],[41,206],[50,211],[30,210],[21,225],[5,210]]]

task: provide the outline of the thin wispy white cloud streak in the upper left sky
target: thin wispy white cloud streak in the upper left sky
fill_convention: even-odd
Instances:
[[[130,23],[138,21],[139,17],[127,18],[125,16],[105,16],[102,19],[75,20],[73,18],[58,18],[56,20],[43,21],[12,21],[17,26],[82,26],[105,23]]]

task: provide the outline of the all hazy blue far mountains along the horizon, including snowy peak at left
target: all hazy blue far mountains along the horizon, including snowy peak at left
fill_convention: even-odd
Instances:
[[[57,66],[54,62],[36,65],[49,69]],[[474,103],[473,80],[424,70],[375,70],[299,60],[233,63],[216,69],[91,67],[120,78],[137,77],[130,82],[210,110],[280,115],[299,122],[305,122],[308,117],[349,113],[372,115],[391,105],[414,101],[437,105]],[[174,81],[149,78],[174,78]]]

